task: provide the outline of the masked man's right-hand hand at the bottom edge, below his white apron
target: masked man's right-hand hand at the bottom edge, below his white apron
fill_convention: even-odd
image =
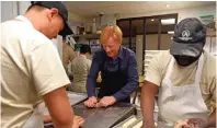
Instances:
[[[187,124],[193,126],[193,128],[208,128],[208,121],[202,118],[190,118]]]

